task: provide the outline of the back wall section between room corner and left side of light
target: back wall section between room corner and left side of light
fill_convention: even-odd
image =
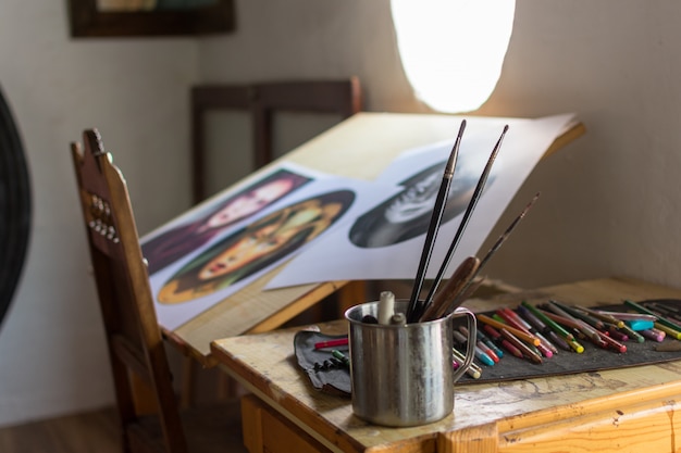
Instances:
[[[238,33],[201,43],[205,80],[358,75],[370,110],[424,110],[401,72],[388,0],[237,3]]]

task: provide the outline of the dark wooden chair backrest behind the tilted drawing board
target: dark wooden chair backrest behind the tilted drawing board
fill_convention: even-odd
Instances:
[[[194,201],[206,188],[203,116],[210,110],[249,111],[252,123],[253,164],[259,168],[273,158],[276,112],[334,113],[347,118],[361,110],[359,78],[340,80],[284,80],[260,84],[200,85],[191,89],[191,165]]]

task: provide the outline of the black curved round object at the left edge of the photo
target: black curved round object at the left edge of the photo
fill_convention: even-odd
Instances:
[[[24,148],[0,90],[0,325],[24,265],[30,210],[30,180]]]

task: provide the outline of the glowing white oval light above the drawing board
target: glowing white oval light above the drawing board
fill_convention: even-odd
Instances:
[[[513,27],[515,0],[392,0],[397,46],[419,99],[470,112],[492,95]]]

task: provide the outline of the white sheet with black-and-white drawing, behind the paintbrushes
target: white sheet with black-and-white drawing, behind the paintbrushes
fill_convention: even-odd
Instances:
[[[445,222],[439,229],[428,278],[433,278],[437,274],[460,224],[468,198],[504,125],[508,124],[509,130],[483,196],[469,221],[445,277],[449,276],[465,257],[478,253],[522,183],[572,118],[572,114],[538,119],[499,118],[496,124],[491,123],[488,118],[485,118],[484,123],[478,123],[474,117],[467,119],[459,163],[451,185],[451,194],[457,203],[449,200],[450,204],[458,205],[458,210],[454,210],[457,215]],[[444,162],[449,155],[454,138],[447,143],[434,143],[406,152],[386,168],[377,181],[400,184],[429,166],[439,163],[439,171],[435,177],[435,186],[438,187]],[[412,196],[414,189],[418,190],[419,186],[412,188]],[[433,202],[434,196],[431,198],[430,209]],[[362,212],[358,222],[347,221],[333,234],[300,253],[270,281],[268,288],[333,280],[413,278],[423,248],[430,211],[426,210],[425,222],[416,225],[413,221],[398,222],[405,218],[400,212],[407,204],[405,200],[392,203],[392,207],[379,206],[380,204],[374,206],[377,207],[375,212],[369,213],[371,210]],[[386,218],[395,222],[385,222]],[[413,230],[406,232],[409,230],[407,227],[412,227],[416,232]],[[361,230],[364,230],[363,235]],[[333,256],[333,260],[329,260],[329,256]]]

